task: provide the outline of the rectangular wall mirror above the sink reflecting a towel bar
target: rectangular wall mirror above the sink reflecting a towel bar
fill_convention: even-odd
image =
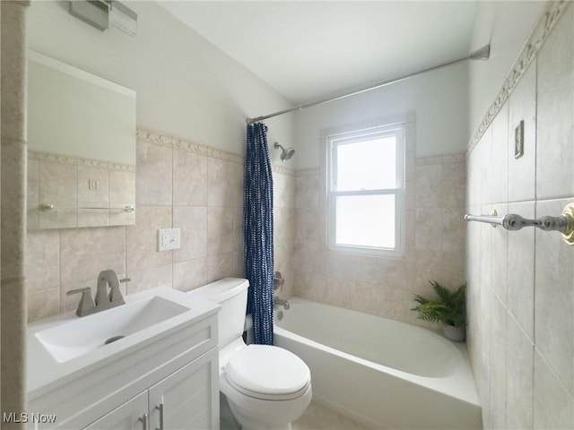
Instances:
[[[135,91],[28,52],[28,228],[135,223]]]

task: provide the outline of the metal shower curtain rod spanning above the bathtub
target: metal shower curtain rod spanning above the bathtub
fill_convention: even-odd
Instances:
[[[361,90],[354,90],[352,92],[345,92],[343,94],[339,94],[339,95],[336,95],[334,97],[329,97],[328,99],[319,99],[316,101],[311,101],[309,103],[305,103],[305,104],[299,105],[297,107],[290,107],[289,109],[284,109],[284,110],[280,110],[278,112],[274,112],[273,114],[268,114],[268,115],[264,115],[264,116],[257,116],[255,118],[247,118],[246,122],[248,123],[248,125],[252,125],[254,123],[257,123],[258,121],[263,121],[264,119],[273,118],[274,116],[289,114],[291,112],[295,112],[296,110],[305,109],[307,107],[322,105],[324,103],[329,103],[331,101],[345,99],[345,98],[351,97],[351,96],[356,96],[357,94],[361,94],[363,92],[367,92],[370,90],[377,90],[378,88],[386,87],[387,85],[390,85],[391,83],[401,82],[401,81],[404,81],[406,79],[412,78],[413,76],[417,76],[417,75],[422,74],[422,73],[432,72],[433,70],[437,70],[437,69],[440,69],[442,67],[446,67],[447,65],[457,64],[457,63],[460,63],[462,61],[466,61],[466,60],[488,60],[490,54],[491,54],[491,46],[485,45],[485,46],[481,47],[480,49],[477,49],[474,52],[472,52],[469,56],[464,56],[462,58],[458,58],[457,60],[448,61],[447,63],[443,63],[443,64],[433,65],[431,67],[427,67],[426,69],[422,69],[418,72],[405,74],[403,76],[392,79],[390,81],[380,82],[380,83],[377,83],[377,84],[372,85],[370,87],[363,88]]]

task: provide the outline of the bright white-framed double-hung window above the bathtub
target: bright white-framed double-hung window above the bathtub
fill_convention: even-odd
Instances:
[[[399,256],[404,126],[327,136],[328,240],[333,251]]]

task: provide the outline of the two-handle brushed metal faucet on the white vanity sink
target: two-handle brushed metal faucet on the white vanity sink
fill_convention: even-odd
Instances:
[[[127,281],[129,281],[127,278],[118,280],[116,272],[109,269],[107,271],[100,271],[100,275],[98,275],[98,289],[95,300],[91,298],[90,287],[72,289],[65,294],[66,296],[71,296],[73,294],[82,293],[75,314],[78,316],[86,316],[111,307],[124,305],[126,302],[119,289],[119,284]]]

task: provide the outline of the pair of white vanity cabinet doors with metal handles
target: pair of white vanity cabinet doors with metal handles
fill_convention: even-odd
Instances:
[[[219,428],[217,349],[182,367],[83,430]]]

